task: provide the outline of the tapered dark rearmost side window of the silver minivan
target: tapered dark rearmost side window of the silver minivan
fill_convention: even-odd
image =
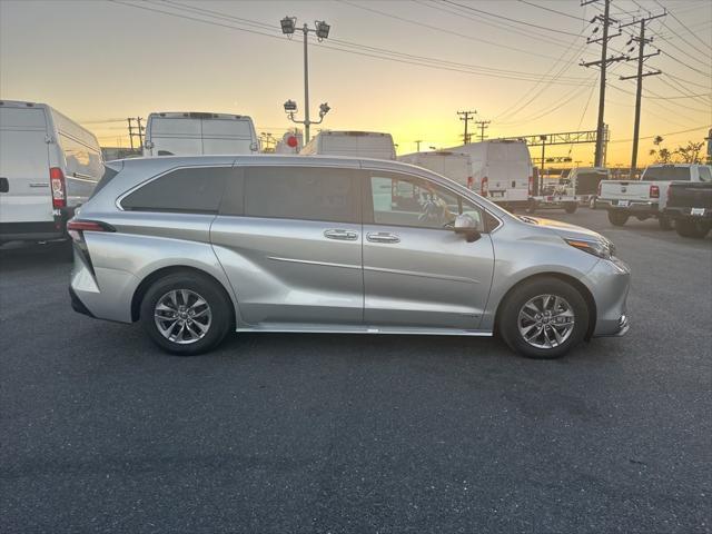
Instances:
[[[132,211],[217,214],[231,172],[231,167],[176,169],[125,197],[121,207]]]

